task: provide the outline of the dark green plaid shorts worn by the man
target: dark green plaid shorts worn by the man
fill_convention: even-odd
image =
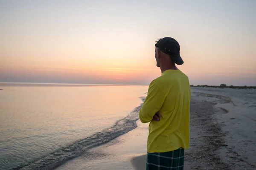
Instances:
[[[183,170],[184,149],[163,153],[147,153],[147,170]]]

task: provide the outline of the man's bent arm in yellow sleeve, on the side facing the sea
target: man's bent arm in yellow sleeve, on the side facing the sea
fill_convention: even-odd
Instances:
[[[140,121],[143,123],[151,122],[155,113],[162,107],[164,99],[165,94],[156,82],[152,81],[148,87],[148,95],[140,109]]]

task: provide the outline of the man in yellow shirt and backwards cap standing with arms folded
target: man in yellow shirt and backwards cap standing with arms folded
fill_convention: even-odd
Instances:
[[[140,109],[140,121],[150,122],[147,170],[183,170],[191,92],[188,77],[175,65],[183,64],[179,43],[170,37],[158,40],[155,58],[162,75],[150,83]]]

